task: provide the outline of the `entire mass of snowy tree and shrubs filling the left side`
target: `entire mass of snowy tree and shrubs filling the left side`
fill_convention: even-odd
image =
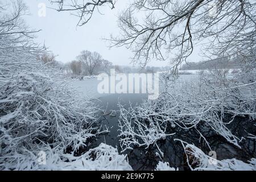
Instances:
[[[97,108],[38,59],[44,49],[33,42],[22,20],[22,1],[1,6],[0,169],[34,165],[32,156],[55,152],[51,148],[56,146],[60,154],[67,147],[74,154],[100,132]]]

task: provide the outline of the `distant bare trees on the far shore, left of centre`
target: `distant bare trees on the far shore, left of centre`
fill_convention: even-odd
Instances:
[[[109,74],[110,69],[115,69],[117,73],[156,73],[170,69],[169,67],[149,66],[142,69],[139,67],[113,65],[112,62],[103,59],[100,53],[90,51],[81,51],[75,60],[65,64],[56,61],[56,56],[53,53],[45,53],[39,56],[38,59],[43,61],[44,64],[59,68],[67,77],[80,79],[84,76],[93,76],[100,73]]]

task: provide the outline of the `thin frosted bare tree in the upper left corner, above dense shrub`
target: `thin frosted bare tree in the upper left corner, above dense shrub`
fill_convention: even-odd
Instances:
[[[9,7],[8,11],[6,7]],[[38,31],[31,31],[24,24],[22,17],[26,14],[27,6],[22,1],[11,2],[11,6],[5,5],[5,2],[0,4],[0,76],[6,80],[17,69],[31,70],[36,67],[37,63],[26,65],[26,61],[44,51],[32,41]]]

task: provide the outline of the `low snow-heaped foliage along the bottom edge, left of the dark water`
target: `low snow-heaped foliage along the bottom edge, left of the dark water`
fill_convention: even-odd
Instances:
[[[63,154],[59,147],[45,146],[46,162],[38,163],[40,156],[27,151],[27,155],[20,155],[15,165],[7,164],[7,168],[16,170],[44,170],[44,171],[131,171],[126,155],[119,155],[117,149],[101,143],[81,156]]]

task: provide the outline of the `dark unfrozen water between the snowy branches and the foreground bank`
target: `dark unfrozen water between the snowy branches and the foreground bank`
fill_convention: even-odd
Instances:
[[[103,125],[109,127],[109,133],[100,135],[97,140],[94,141],[93,145],[97,146],[100,143],[106,143],[110,146],[117,147],[118,151],[121,151],[119,147],[118,134],[120,133],[118,127],[119,119],[119,107],[118,101],[122,105],[129,107],[129,103],[132,106],[141,104],[143,100],[147,99],[147,94],[110,94],[99,98],[96,103],[101,106],[102,109],[106,109],[105,113],[100,113],[100,122]],[[229,125],[230,130],[238,136],[246,136],[247,132],[254,134],[256,133],[255,121],[251,121],[248,118],[236,118],[232,124]],[[200,130],[200,128],[197,128]],[[127,150],[123,154],[127,154],[129,159],[129,164],[133,167],[134,170],[152,170],[155,169],[156,164],[159,161],[169,162],[171,167],[179,167],[180,170],[188,169],[185,164],[184,158],[184,149],[181,146],[179,141],[174,139],[181,139],[184,142],[190,144],[195,144],[196,147],[199,147],[201,150],[208,154],[209,147],[201,138],[199,133],[195,129],[184,130],[176,127],[175,129],[170,129],[171,133],[176,133],[173,136],[167,137],[166,140],[159,140],[158,146],[160,150],[164,153],[164,157],[161,159],[159,156],[156,156],[156,147],[151,146],[147,150],[140,147],[134,147],[134,150]],[[243,139],[240,145],[242,148],[238,148],[233,144],[227,142],[220,135],[213,133],[210,130],[202,129],[202,133],[205,138],[208,140],[211,150],[216,151],[217,159],[232,159],[236,158],[246,162],[251,158],[255,158],[255,139]],[[200,131],[202,131],[200,130]]]

